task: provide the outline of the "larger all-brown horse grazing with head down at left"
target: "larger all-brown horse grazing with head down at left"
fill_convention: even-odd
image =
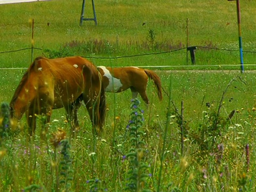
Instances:
[[[23,75],[10,102],[11,118],[25,113],[30,135],[35,133],[36,115],[50,122],[52,109],[64,107],[67,118],[78,126],[77,110],[83,100],[93,125],[100,131],[105,119],[105,91],[101,75],[81,57],[47,59],[38,57]]]

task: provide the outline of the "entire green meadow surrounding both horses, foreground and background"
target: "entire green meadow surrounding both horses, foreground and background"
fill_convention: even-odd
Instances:
[[[73,137],[58,109],[47,132],[38,116],[29,140],[25,117],[5,129],[3,107],[0,191],[255,191],[256,3],[240,6],[244,73],[235,2],[95,1],[98,26],[79,26],[82,1],[0,5],[1,102],[41,55],[149,68],[163,87],[159,101],[148,82],[148,106],[130,90],[106,93],[100,135],[82,106]],[[195,65],[187,45],[197,46]]]

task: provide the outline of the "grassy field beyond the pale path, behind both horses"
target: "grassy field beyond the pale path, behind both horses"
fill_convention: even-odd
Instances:
[[[103,63],[115,66],[186,66],[191,65],[190,58],[187,62],[185,49],[188,27],[188,46],[198,46],[196,67],[201,69],[202,66],[210,68],[209,65],[214,65],[217,66],[215,69],[218,69],[219,65],[238,65],[231,68],[239,69],[235,2],[101,1],[95,2],[98,26],[94,26],[93,21],[85,21],[80,27],[81,7],[81,1],[1,5],[0,51],[31,47],[31,20],[34,19],[34,46],[43,49],[43,52],[35,50],[34,57],[48,55],[45,50],[57,51],[58,55],[79,54],[84,57],[115,58],[182,49],[159,54],[158,57],[149,55],[122,58],[117,61],[93,61],[100,65]],[[254,12],[255,2],[241,2],[243,49],[251,51],[244,52],[246,65],[255,64]],[[85,17],[92,15],[91,2],[87,2]],[[14,57],[20,59],[13,60]],[[31,51],[1,54],[1,58],[2,67],[28,66]],[[247,68],[251,66],[246,66]]]

